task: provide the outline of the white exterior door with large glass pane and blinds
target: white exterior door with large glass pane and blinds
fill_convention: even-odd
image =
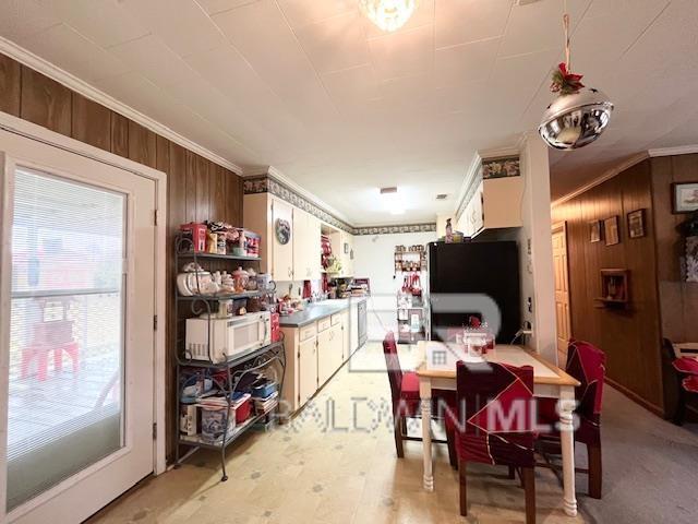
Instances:
[[[154,469],[155,182],[0,131],[0,520],[77,523]]]

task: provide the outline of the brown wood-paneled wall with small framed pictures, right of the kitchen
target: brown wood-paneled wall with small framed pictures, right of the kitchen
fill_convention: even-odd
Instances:
[[[651,195],[651,166],[645,160],[553,209],[567,223],[571,335],[602,348],[609,379],[655,413],[663,412],[660,308]],[[647,236],[630,239],[627,213],[645,209]],[[621,243],[590,242],[589,223],[618,216]],[[600,308],[602,269],[630,271],[627,310]]]

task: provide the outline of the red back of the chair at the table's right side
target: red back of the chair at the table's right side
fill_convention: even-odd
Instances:
[[[569,342],[566,371],[579,381],[579,386],[575,390],[577,414],[593,422],[601,419],[605,364],[605,354],[593,344],[583,341]]]

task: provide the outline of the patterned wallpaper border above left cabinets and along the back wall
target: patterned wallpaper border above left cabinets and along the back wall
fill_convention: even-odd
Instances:
[[[321,221],[342,229],[351,235],[390,235],[396,233],[424,233],[435,231],[436,223],[426,224],[405,224],[393,226],[369,226],[369,227],[353,227],[344,221],[340,221],[336,216],[327,213],[322,207],[313,204],[311,201],[298,194],[296,191],[287,187],[285,183],[279,182],[270,175],[260,175],[257,177],[250,177],[243,179],[243,194],[257,194],[257,193],[272,193],[281,200],[285,200],[296,207],[316,216]]]

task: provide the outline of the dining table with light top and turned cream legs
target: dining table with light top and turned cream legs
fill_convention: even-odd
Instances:
[[[416,372],[419,377],[419,394],[422,415],[422,445],[424,453],[423,485],[428,491],[434,490],[432,462],[432,390],[456,390],[456,362],[461,352],[452,344],[435,341],[420,341],[417,345]],[[477,359],[477,357],[474,357]],[[489,362],[533,368],[533,394],[539,397],[557,398],[559,414],[559,436],[563,461],[563,508],[567,515],[577,515],[575,495],[575,388],[579,382],[559,369],[555,364],[525,346],[496,344],[482,358]]]

